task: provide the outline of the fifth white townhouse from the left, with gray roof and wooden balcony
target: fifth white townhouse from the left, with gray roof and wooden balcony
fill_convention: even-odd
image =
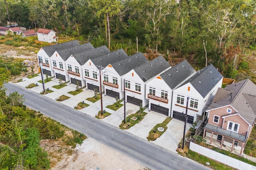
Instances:
[[[110,63],[104,67],[102,70],[104,75],[102,84],[104,85],[105,94],[112,97],[118,97],[118,99],[123,99],[124,82],[122,81],[122,76],[147,62],[148,59],[139,52],[126,57],[125,59]]]

